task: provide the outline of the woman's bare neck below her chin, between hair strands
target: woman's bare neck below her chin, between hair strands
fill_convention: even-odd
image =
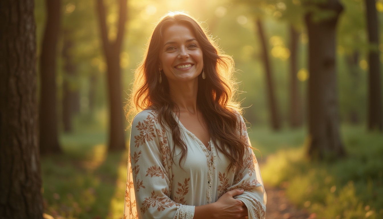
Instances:
[[[169,82],[170,97],[180,111],[197,112],[198,79],[187,83]],[[176,111],[177,109],[174,109]]]

